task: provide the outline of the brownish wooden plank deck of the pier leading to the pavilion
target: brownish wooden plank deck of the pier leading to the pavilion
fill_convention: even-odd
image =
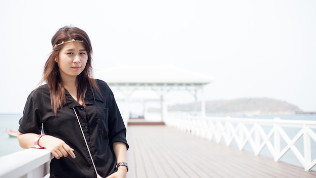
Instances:
[[[239,151],[164,125],[129,125],[128,178],[316,177],[284,162]]]

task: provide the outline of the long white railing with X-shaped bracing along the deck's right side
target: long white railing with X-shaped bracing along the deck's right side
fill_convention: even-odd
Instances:
[[[312,146],[316,143],[316,121],[199,117],[169,113],[165,123],[210,141],[224,142],[227,146],[232,146],[234,142],[239,150],[245,149],[248,144],[255,155],[259,155],[266,147],[275,161],[279,161],[292,150],[305,170],[310,170],[316,165],[316,159],[312,160],[312,154],[315,154],[315,148],[313,150]],[[289,128],[295,129],[293,137],[290,136],[293,132],[287,133]],[[300,138],[303,140],[303,155],[295,145]]]

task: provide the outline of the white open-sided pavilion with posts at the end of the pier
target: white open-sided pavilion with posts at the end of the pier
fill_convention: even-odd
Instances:
[[[118,66],[94,71],[94,76],[109,84],[116,100],[126,103],[125,116],[130,116],[132,101],[143,102],[144,111],[146,102],[155,101],[161,105],[161,121],[168,112],[166,100],[170,91],[188,91],[195,101],[201,101],[200,114],[205,116],[204,86],[213,81],[213,77],[173,66]]]

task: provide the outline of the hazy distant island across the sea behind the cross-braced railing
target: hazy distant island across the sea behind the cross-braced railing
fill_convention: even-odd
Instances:
[[[168,111],[199,112],[200,102],[175,104],[168,106]],[[205,102],[207,114],[297,114],[304,113],[297,106],[271,98],[240,98],[234,100],[214,100]],[[313,113],[311,113],[313,114]]]

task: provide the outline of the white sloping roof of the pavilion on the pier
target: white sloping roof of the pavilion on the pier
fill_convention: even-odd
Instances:
[[[204,85],[213,81],[213,77],[173,66],[119,66],[95,71],[94,76],[106,81],[109,85]]]

